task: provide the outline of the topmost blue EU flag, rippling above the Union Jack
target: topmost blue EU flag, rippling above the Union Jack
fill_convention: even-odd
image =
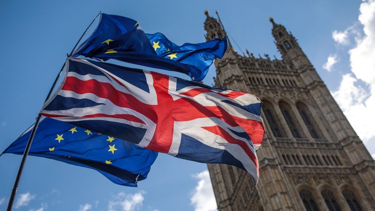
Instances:
[[[227,38],[179,46],[161,33],[145,34],[137,21],[102,13],[98,27],[74,51],[73,57],[116,59],[182,72],[194,81],[202,81],[214,59],[223,58],[227,48]]]

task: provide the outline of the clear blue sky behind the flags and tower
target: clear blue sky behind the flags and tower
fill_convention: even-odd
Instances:
[[[135,19],[146,33],[162,32],[183,44],[205,41],[204,10],[208,9],[210,15],[219,10],[229,34],[243,51],[247,48],[254,55],[280,58],[268,19],[285,25],[375,154],[375,132],[368,120],[368,115],[375,115],[370,106],[375,102],[375,63],[369,62],[375,55],[373,0],[3,0],[0,7],[0,151],[33,124],[66,54],[99,11]],[[212,84],[213,76],[210,68],[205,84]],[[0,210],[6,207],[20,161],[19,155],[0,157]],[[92,169],[30,156],[15,210],[106,211],[110,206],[120,210],[127,203],[129,211],[190,211],[200,206],[199,199],[212,199],[205,170],[205,164],[159,154],[148,178],[138,188],[130,188],[115,185]]]

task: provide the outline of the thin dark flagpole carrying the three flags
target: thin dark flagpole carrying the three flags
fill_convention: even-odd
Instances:
[[[86,28],[86,30],[83,32],[82,36],[80,37],[80,39],[78,40],[78,42],[76,43],[76,45],[74,45],[72,51],[70,52],[69,55],[67,55],[68,57],[72,56],[73,54],[73,51],[76,49],[77,45],[79,44],[79,42],[81,42],[83,36],[86,34],[86,32],[88,31],[88,29],[90,28],[90,26],[94,23],[94,21],[98,18],[98,16],[102,13],[102,11],[100,11],[98,13],[98,15],[95,17],[94,20],[91,21],[90,25],[88,25],[88,27]],[[52,92],[53,92],[53,89],[55,88],[56,84],[57,84],[57,81],[59,80],[60,76],[61,76],[61,73],[62,73],[62,70],[64,69],[65,67],[65,63],[62,64],[62,67],[60,69],[60,72],[59,74],[57,74],[56,76],[56,79],[55,81],[53,82],[52,86],[51,86],[51,89],[49,90],[48,94],[47,94],[47,97],[45,98],[45,101],[46,102],[49,97],[51,96]],[[12,207],[13,207],[13,203],[14,203],[14,199],[16,197],[16,192],[17,192],[17,189],[18,189],[18,185],[20,183],[20,179],[21,179],[21,175],[22,175],[22,170],[23,170],[23,167],[25,165],[25,162],[26,162],[26,158],[27,158],[27,155],[30,151],[30,147],[31,147],[31,143],[33,142],[33,139],[34,139],[34,136],[35,136],[35,132],[37,131],[37,128],[38,128],[38,125],[39,125],[39,122],[41,121],[41,118],[42,118],[42,115],[39,114],[37,119],[36,119],[36,122],[34,124],[34,127],[33,127],[33,130],[31,131],[31,134],[30,134],[30,137],[29,137],[29,140],[27,141],[27,145],[26,145],[26,148],[25,148],[25,151],[23,152],[23,156],[22,156],[22,160],[21,160],[21,164],[20,164],[20,168],[18,169],[18,172],[17,172],[17,176],[16,176],[16,180],[14,181],[14,185],[13,185],[13,189],[12,189],[12,193],[10,194],[10,197],[9,197],[9,202],[8,202],[8,206],[7,206],[7,209],[6,211],[12,211]]]

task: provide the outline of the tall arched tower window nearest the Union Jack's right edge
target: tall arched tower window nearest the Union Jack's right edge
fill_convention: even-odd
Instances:
[[[284,130],[280,125],[279,118],[277,117],[272,104],[268,101],[263,101],[262,109],[266,115],[268,124],[271,127],[273,136],[278,138],[285,137]]]

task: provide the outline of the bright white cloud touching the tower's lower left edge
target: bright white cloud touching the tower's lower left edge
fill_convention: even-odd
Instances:
[[[216,201],[208,170],[195,174],[194,178],[199,181],[195,187],[194,195],[190,198],[191,205],[194,206],[195,211],[216,211]]]

